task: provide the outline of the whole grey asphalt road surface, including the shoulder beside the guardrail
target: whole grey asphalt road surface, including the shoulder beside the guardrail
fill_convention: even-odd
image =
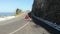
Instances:
[[[0,34],[49,34],[43,27],[24,19],[26,14],[0,22]]]

